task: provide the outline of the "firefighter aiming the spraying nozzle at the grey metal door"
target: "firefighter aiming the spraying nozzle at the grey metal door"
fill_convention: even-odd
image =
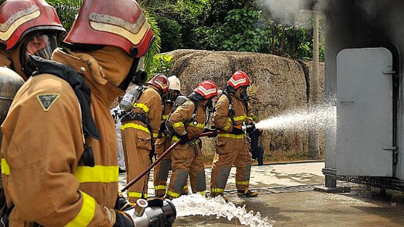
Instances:
[[[213,123],[216,128],[227,133],[217,136],[216,153],[212,164],[211,196],[223,196],[233,165],[236,167],[238,196],[258,196],[257,192],[249,190],[252,158],[246,134],[241,129],[243,123],[254,124],[253,113],[248,103],[248,86],[250,78],[247,74],[242,71],[235,72],[215,105]]]

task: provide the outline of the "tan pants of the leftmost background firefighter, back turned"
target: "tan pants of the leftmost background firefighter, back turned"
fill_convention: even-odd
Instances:
[[[122,146],[126,165],[126,183],[142,173],[149,165],[149,152],[151,150],[150,133],[144,130],[139,121],[121,126]],[[136,202],[139,198],[147,198],[147,183],[149,174],[142,177],[136,184],[128,189],[129,202]]]

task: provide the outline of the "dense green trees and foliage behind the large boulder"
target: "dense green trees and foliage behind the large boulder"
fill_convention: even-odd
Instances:
[[[47,1],[69,30],[82,0]],[[312,21],[306,21],[304,27],[282,24],[261,7],[262,1],[139,0],[138,3],[149,12],[149,24],[156,36],[145,56],[145,69],[149,74],[154,68],[154,55],[161,50],[248,51],[304,60],[312,58]],[[323,43],[320,44],[320,60],[324,60]]]

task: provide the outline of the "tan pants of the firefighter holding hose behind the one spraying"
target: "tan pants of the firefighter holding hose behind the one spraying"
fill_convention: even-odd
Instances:
[[[193,193],[205,194],[206,177],[202,152],[196,144],[196,151],[189,144],[178,145],[172,151],[172,175],[167,195],[178,198],[186,193],[188,175]]]

